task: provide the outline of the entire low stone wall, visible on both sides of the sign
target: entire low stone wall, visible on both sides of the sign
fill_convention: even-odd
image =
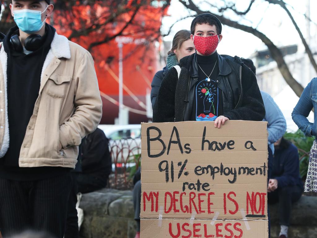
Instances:
[[[84,210],[81,238],[134,238],[132,191],[105,188],[83,194],[80,208]],[[271,238],[278,238],[278,204],[269,205],[269,209]],[[317,197],[302,196],[294,203],[288,238],[317,238]]]

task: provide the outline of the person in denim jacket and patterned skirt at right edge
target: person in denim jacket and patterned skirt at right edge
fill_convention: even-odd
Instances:
[[[307,116],[314,108],[314,123],[309,122]],[[316,136],[316,117],[317,117],[317,78],[313,78],[306,86],[299,101],[297,102],[292,118],[305,136]],[[317,143],[314,140],[310,150],[309,165],[305,183],[305,192],[317,192]]]

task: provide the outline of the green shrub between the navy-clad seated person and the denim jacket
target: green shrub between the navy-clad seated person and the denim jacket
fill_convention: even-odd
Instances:
[[[309,152],[315,137],[307,137],[301,130],[298,130],[295,133],[286,132],[284,138],[292,142],[298,148],[300,158],[299,171],[301,178],[305,179],[308,169]]]

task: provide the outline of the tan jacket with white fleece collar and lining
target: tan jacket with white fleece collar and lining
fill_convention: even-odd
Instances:
[[[0,158],[9,148],[8,56],[0,50]],[[100,122],[102,102],[94,61],[81,46],[55,33],[41,75],[39,96],[20,150],[20,167],[74,168],[81,139]],[[59,143],[62,149],[59,151]]]

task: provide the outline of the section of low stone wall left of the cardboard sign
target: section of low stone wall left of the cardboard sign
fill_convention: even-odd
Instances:
[[[105,188],[83,194],[79,207],[84,210],[81,238],[134,238],[132,191]]]

